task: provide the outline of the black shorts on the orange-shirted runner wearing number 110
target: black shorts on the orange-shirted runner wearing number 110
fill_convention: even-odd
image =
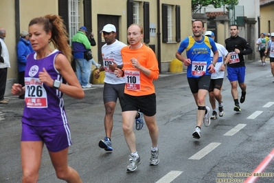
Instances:
[[[122,112],[140,110],[140,112],[146,116],[155,116],[156,114],[155,94],[146,96],[130,96],[128,94],[124,94],[122,100]]]

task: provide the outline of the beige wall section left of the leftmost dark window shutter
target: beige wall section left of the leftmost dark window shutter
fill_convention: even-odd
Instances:
[[[58,14],[57,0],[24,0],[19,1],[20,6],[20,32],[21,30],[28,30],[28,24],[34,17],[41,17],[45,14]],[[5,37],[5,44],[8,47],[10,55],[10,68],[8,69],[8,80],[5,89],[5,95],[10,93],[12,84],[16,82],[18,76],[17,58],[16,58],[16,24],[15,24],[15,1],[1,0],[0,2],[0,16],[1,27],[5,28],[7,35]],[[5,17],[5,18],[4,18]],[[8,18],[7,18],[8,17]]]

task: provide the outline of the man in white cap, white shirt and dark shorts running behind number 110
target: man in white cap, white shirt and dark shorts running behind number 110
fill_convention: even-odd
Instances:
[[[116,68],[122,69],[123,61],[121,56],[121,49],[126,44],[115,39],[116,28],[112,24],[104,25],[103,30],[104,41],[106,44],[102,46],[103,65],[95,71],[95,78],[100,77],[100,72],[104,71],[104,107],[106,114],[104,116],[104,130],[106,136],[100,140],[99,147],[105,151],[113,151],[111,143],[111,131],[113,129],[113,114],[119,98],[119,103],[122,106],[122,96],[124,96],[125,79],[123,77],[117,78],[114,74]],[[143,115],[137,113],[135,118],[136,129],[140,130],[144,126]]]

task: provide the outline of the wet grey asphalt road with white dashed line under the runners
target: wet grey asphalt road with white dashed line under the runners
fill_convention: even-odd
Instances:
[[[163,73],[155,81],[157,123],[159,125],[158,166],[149,166],[150,138],[144,126],[136,131],[141,164],[126,173],[129,150],[122,132],[119,104],[115,109],[111,140],[112,153],[98,147],[104,138],[102,85],[85,89],[83,100],[64,96],[73,144],[69,147],[69,166],[80,173],[83,182],[172,182],[208,183],[243,181],[274,148],[273,76],[269,62],[247,63],[247,98],[242,111],[233,111],[231,86],[224,79],[222,97],[225,116],[202,127],[201,139],[192,138],[196,127],[196,105],[185,73]],[[239,88],[240,95],[240,88]],[[239,96],[240,97],[240,96]],[[21,182],[20,138],[23,100],[8,96],[10,103],[0,109],[0,182]],[[209,100],[206,100],[209,106]],[[270,177],[257,182],[274,182],[274,163],[264,171]],[[62,182],[56,178],[47,149],[39,172],[39,183]]]

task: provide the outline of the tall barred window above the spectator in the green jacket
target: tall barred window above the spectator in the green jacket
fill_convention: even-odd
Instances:
[[[79,0],[69,0],[69,43],[71,38],[79,29],[79,11],[78,11]]]

